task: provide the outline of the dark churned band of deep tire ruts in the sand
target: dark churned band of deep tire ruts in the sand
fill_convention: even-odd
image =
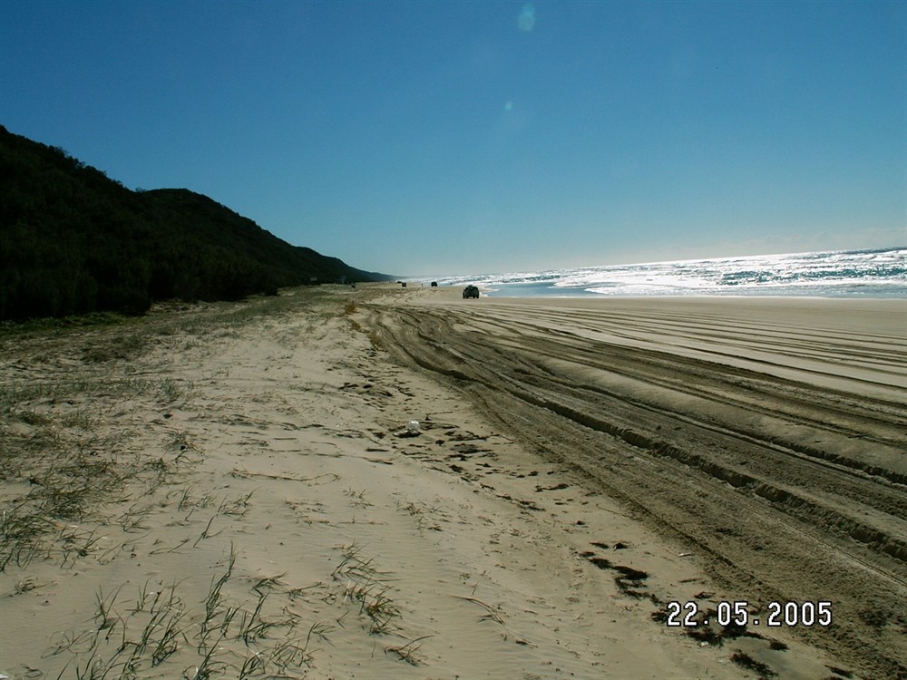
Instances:
[[[754,600],[834,600],[832,629],[801,631],[814,644],[880,677],[907,673],[907,477],[883,464],[907,454],[907,403],[610,343],[572,333],[567,315],[540,327],[475,308],[364,311],[399,361],[697,546],[717,578]],[[865,624],[866,607],[892,623]]]

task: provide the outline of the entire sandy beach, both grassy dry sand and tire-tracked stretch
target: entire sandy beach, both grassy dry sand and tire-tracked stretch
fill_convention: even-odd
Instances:
[[[3,675],[907,674],[903,301],[319,287],[0,376]]]

